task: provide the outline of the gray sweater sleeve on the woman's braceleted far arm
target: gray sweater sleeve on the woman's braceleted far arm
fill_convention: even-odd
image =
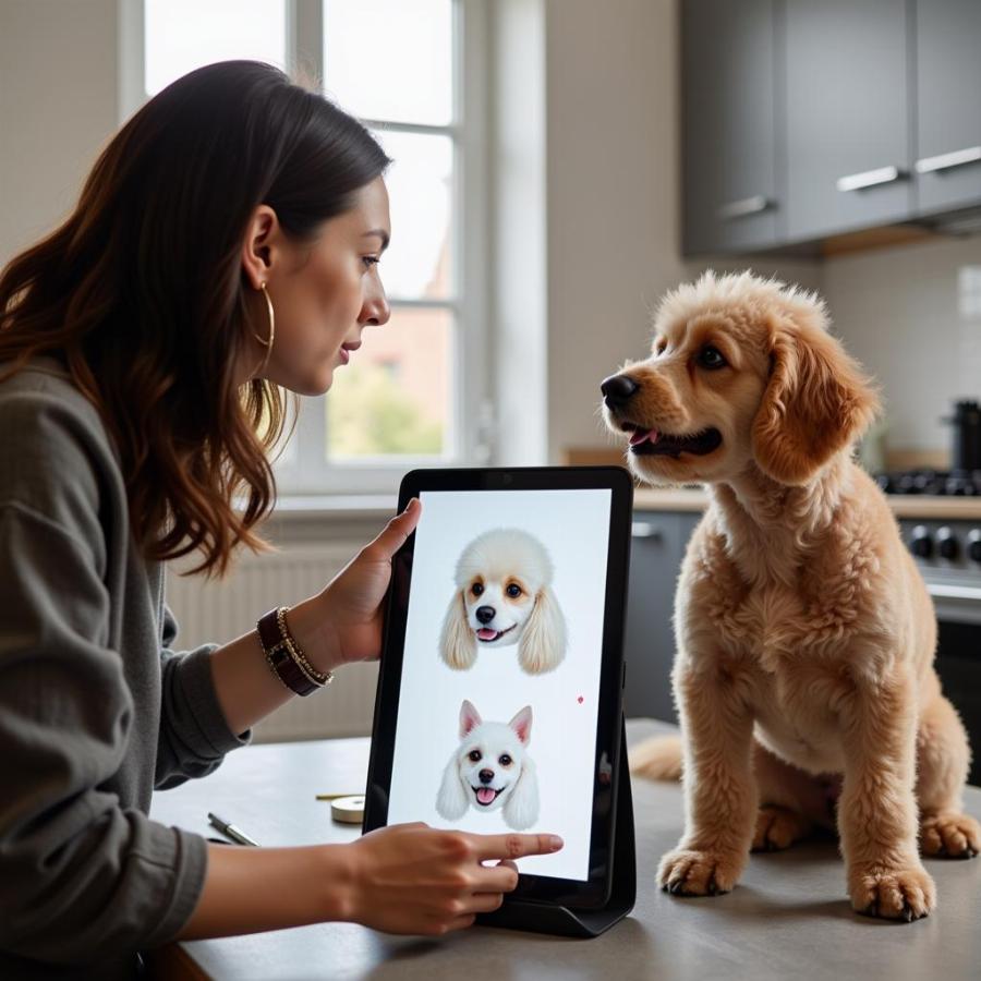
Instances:
[[[252,738],[246,730],[237,736],[228,727],[218,703],[211,676],[216,644],[202,644],[177,653],[171,644],[178,625],[169,606],[164,607],[164,704],[157,749],[156,787],[167,790],[189,777],[216,770],[225,754]]]

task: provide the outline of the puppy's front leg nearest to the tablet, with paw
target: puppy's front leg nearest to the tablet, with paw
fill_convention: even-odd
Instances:
[[[695,668],[679,657],[674,685],[685,744],[686,827],[657,877],[676,896],[714,896],[736,885],[753,839],[753,716],[720,662]]]

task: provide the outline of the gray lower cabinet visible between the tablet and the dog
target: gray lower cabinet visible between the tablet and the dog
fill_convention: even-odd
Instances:
[[[671,699],[675,633],[671,616],[681,559],[701,514],[634,511],[623,651],[623,711],[676,722]]]

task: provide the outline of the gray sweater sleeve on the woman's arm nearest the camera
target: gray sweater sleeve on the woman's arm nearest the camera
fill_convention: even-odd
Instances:
[[[206,872],[204,838],[99,789],[134,719],[98,564],[83,535],[0,499],[0,949],[48,962],[171,938]]]

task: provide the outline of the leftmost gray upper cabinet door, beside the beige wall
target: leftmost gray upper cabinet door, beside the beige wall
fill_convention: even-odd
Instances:
[[[685,252],[772,245],[774,0],[683,0]]]

